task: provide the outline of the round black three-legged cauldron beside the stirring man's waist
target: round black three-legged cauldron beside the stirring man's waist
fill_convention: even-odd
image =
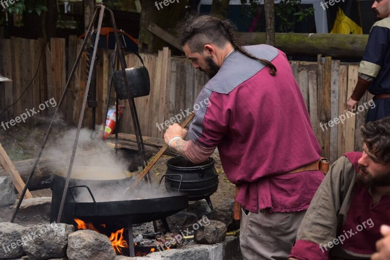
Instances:
[[[168,192],[187,193],[188,200],[205,199],[213,210],[210,195],[215,193],[218,188],[218,175],[214,164],[215,160],[213,158],[208,158],[199,164],[195,164],[182,156],[172,158],[168,160],[167,172],[162,177],[165,177],[165,188]]]

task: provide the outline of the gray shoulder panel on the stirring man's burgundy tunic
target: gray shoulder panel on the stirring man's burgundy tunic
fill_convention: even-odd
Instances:
[[[276,48],[266,44],[244,46],[243,48],[254,57],[269,61],[275,59],[279,53]],[[228,94],[264,67],[262,62],[236,51],[223,62],[218,73],[204,87],[217,93]]]

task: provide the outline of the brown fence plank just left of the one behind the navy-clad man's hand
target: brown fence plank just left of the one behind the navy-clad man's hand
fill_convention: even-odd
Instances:
[[[339,66],[339,92],[338,92],[338,114],[345,115],[347,104],[347,81],[348,81],[348,66]],[[342,121],[337,127],[337,158],[340,158],[345,151],[345,134],[346,123]]]

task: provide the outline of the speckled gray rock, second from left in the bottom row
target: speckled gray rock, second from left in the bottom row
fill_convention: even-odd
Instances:
[[[74,231],[73,225],[64,223],[26,227],[21,232],[23,250],[29,260],[62,258],[66,254],[68,235]]]

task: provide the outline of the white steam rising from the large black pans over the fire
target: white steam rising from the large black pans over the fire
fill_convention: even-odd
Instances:
[[[67,131],[56,141],[56,145],[46,147],[44,150],[43,156],[62,158],[57,161],[59,169],[56,170],[56,174],[64,178],[68,173],[76,132],[76,129]],[[137,151],[133,154],[137,154]],[[81,129],[69,185],[88,185],[96,201],[166,197],[166,193],[162,195],[157,187],[150,188],[143,181],[139,183],[136,191],[129,191],[123,195],[125,188],[134,180],[133,174],[128,171],[130,168],[136,168],[134,161],[137,161],[136,158],[130,160],[129,154],[120,149],[115,155],[115,152],[109,151],[101,140],[91,138],[91,130]],[[163,191],[164,188],[161,187],[160,190]],[[75,188],[73,194],[78,202],[93,201],[86,188]]]

